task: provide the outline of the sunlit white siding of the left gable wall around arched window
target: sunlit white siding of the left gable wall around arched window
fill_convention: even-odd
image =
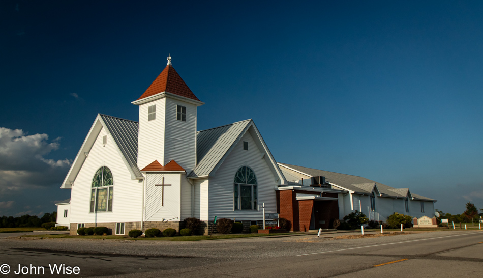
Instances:
[[[107,136],[103,146],[104,129],[99,132],[92,149],[82,164],[71,191],[71,223],[131,222],[142,219],[142,182],[131,180],[131,173]],[[107,166],[114,178],[112,212],[90,213],[90,189],[96,171]]]

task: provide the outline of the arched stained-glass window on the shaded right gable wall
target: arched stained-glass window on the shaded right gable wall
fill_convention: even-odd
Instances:
[[[235,174],[233,184],[233,209],[258,210],[257,177],[248,166],[242,166]]]

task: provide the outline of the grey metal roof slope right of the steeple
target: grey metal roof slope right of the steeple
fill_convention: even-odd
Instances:
[[[196,133],[196,166],[188,176],[209,175],[251,122],[252,120],[249,119],[198,131]]]

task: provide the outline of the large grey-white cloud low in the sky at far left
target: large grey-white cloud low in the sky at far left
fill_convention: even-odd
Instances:
[[[62,182],[72,161],[44,158],[60,146],[60,138],[48,138],[45,133],[27,135],[21,129],[0,127],[0,196]]]

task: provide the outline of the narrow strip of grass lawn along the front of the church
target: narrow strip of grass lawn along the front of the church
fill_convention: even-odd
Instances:
[[[125,240],[169,240],[169,241],[198,241],[198,240],[213,240],[213,239],[229,239],[229,238],[246,238],[246,237],[261,237],[261,236],[278,236],[290,235],[292,233],[282,234],[235,234],[222,235],[215,234],[211,236],[174,236],[174,237],[137,237],[130,238],[128,236],[71,236],[71,235],[24,235],[22,237],[41,237],[41,238],[78,238],[78,239],[125,239]]]

